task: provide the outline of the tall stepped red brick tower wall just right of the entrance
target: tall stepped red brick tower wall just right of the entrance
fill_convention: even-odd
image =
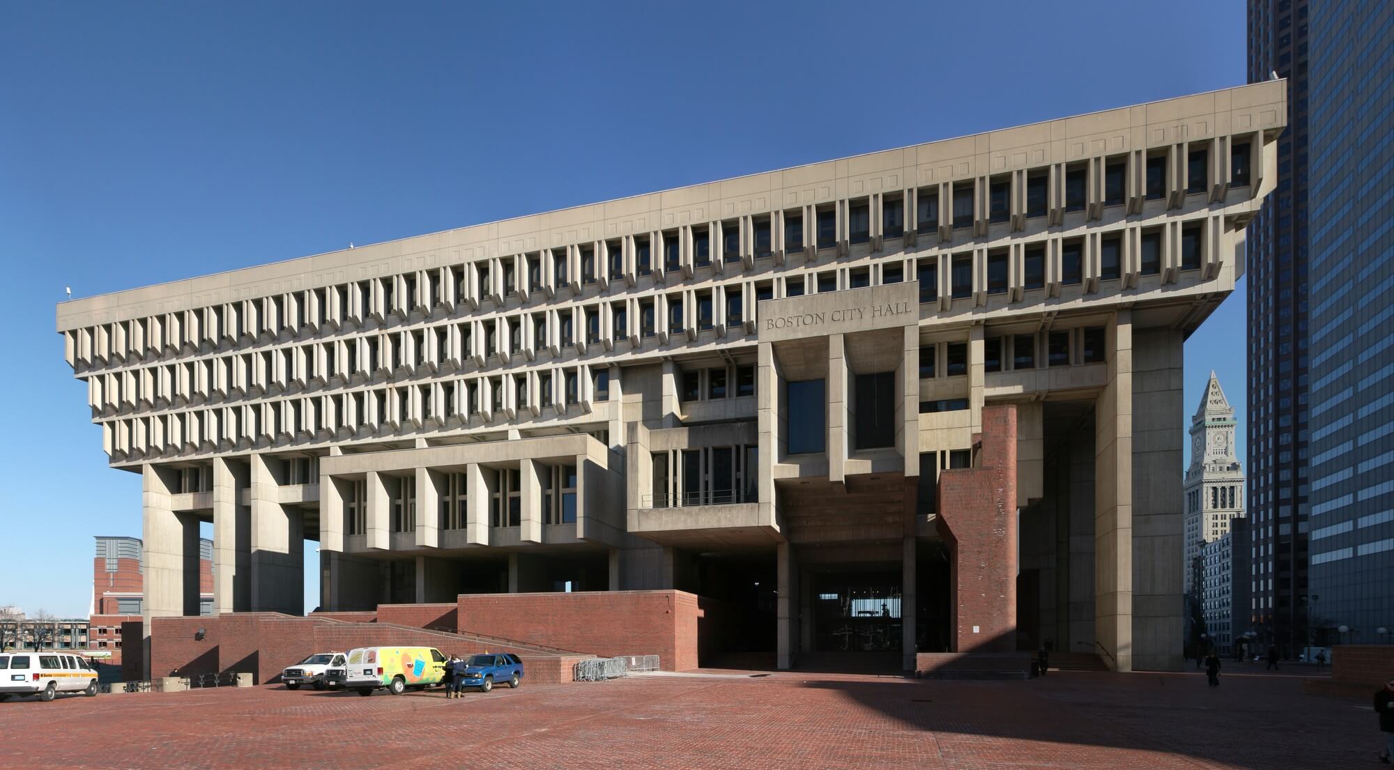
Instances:
[[[1016,650],[1016,407],[983,407],[977,466],[940,476],[953,651]],[[977,633],[974,633],[974,626]]]

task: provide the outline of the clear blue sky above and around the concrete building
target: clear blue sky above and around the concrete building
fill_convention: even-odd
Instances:
[[[85,615],[92,536],[141,534],[139,477],[107,467],[54,333],[64,286],[86,297],[1245,78],[1238,1],[474,6],[0,3],[0,604]],[[1243,307],[1241,283],[1186,343],[1188,418],[1214,368],[1242,420]]]

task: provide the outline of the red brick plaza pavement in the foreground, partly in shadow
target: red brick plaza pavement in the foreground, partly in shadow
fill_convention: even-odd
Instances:
[[[1349,769],[1383,735],[1299,677],[775,674],[439,693],[280,686],[0,704],[0,767]]]

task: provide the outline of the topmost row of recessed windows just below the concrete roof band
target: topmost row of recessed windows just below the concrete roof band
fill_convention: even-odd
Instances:
[[[1249,184],[1250,149],[1249,142],[1234,142],[1231,145],[1231,187]],[[1209,149],[1192,149],[1186,158],[1186,187],[1185,192],[1204,192],[1209,183]],[[1126,198],[1128,159],[1114,158],[1104,163],[1103,204],[1121,205]],[[1086,205],[1087,180],[1086,167],[1076,165],[1066,167],[1064,184],[1064,211],[1080,211]],[[988,222],[1005,222],[1011,216],[1012,184],[1015,174],[991,177],[988,180]],[[1033,170],[1025,174],[1025,215],[1027,218],[1044,216],[1048,205],[1048,170]],[[1146,159],[1144,197],[1147,199],[1165,197],[1168,188],[1168,162],[1165,153],[1153,153]],[[973,181],[960,181],[951,186],[952,195],[952,226],[953,229],[967,227],[973,222]],[[916,223],[914,232],[930,233],[938,229],[940,206],[938,188],[927,187],[916,191]],[[905,222],[905,201],[899,195],[885,195],[881,198],[881,233],[887,237],[898,237],[907,233]],[[817,248],[831,248],[839,241],[839,204],[825,204],[810,206],[813,216],[813,243]],[[804,209],[778,212],[783,230],[782,248],[785,251],[800,251],[806,247]],[[871,237],[870,227],[871,205],[867,198],[848,201],[846,206],[846,240],[852,244],[866,243]],[[750,248],[756,258],[771,257],[775,250],[774,243],[774,215],[750,218]],[[714,233],[715,230],[715,233]],[[654,272],[655,259],[651,240],[661,239],[662,265],[666,272],[680,272],[684,262],[684,251],[690,251],[690,264],[696,268],[712,265],[712,239],[718,237],[721,254],[725,261],[739,261],[747,251],[742,233],[740,220],[725,220],[712,225],[696,225],[684,230],[669,230],[654,236],[633,236],[633,264],[634,273],[645,276]],[[690,239],[689,248],[684,239]],[[362,321],[375,314],[410,312],[414,308],[434,311],[435,308],[460,301],[478,303],[484,297],[495,297],[502,301],[519,290],[517,272],[526,271],[528,292],[565,289],[572,285],[573,254],[576,265],[576,280],[581,286],[601,280],[599,265],[606,265],[609,280],[620,280],[626,275],[627,257],[625,254],[626,240],[606,240],[594,244],[580,244],[576,247],[560,247],[545,252],[531,252],[524,255],[503,257],[499,259],[481,259],[463,265],[452,265],[439,269],[420,271],[390,276],[386,279],[369,279],[354,283],[309,289],[300,293],[277,294],[261,297],[258,300],[243,300],[224,305],[187,311],[184,314],[167,314],[164,317],[149,317],[145,319],[131,319],[110,325],[99,325],[81,329],[79,338],[72,342],[74,360],[91,363],[95,357],[106,357],[99,338],[118,338],[112,340],[110,350],[116,356],[124,357],[127,349],[163,350],[167,346],[178,347],[183,343],[198,343],[202,339],[217,345],[223,338],[233,340],[243,336],[266,332],[280,335],[286,331],[298,333],[307,325],[318,329],[330,319],[354,315]],[[551,286],[544,280],[544,255],[551,259]],[[493,262],[498,262],[498,280],[493,275]],[[1146,275],[1144,255],[1144,275]],[[420,278],[418,278],[420,276]],[[453,297],[446,297],[446,287],[453,290]],[[421,292],[418,292],[421,289]],[[478,290],[473,290],[478,289]],[[449,300],[449,303],[447,303]],[[355,311],[355,312],[354,312]],[[183,317],[183,318],[180,318]],[[198,326],[204,325],[204,335],[198,333]],[[166,326],[170,326],[166,329]]]

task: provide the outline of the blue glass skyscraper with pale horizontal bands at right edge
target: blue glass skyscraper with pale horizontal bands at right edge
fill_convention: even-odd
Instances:
[[[1309,601],[1326,642],[1376,643],[1394,629],[1394,4],[1313,3],[1310,46],[1310,102],[1292,95],[1310,109]]]

